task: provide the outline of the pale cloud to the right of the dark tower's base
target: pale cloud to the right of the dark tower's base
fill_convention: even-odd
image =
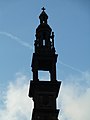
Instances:
[[[61,120],[90,120],[90,73],[71,76],[62,83],[59,95]]]

